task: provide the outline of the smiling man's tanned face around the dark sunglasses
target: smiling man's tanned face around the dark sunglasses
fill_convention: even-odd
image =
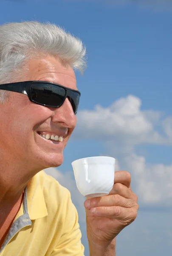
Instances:
[[[72,68],[50,55],[29,60],[28,67],[23,81],[49,81],[77,90]],[[0,120],[0,153],[9,164],[17,161],[35,169],[62,164],[63,149],[76,126],[68,99],[60,108],[49,108],[15,92],[10,92],[8,101],[0,105]],[[57,135],[63,141],[47,140],[40,134]]]

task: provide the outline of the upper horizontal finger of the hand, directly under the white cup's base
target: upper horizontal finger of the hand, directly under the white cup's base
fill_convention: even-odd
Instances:
[[[133,207],[133,200],[122,197],[121,195],[109,195],[98,198],[93,198],[85,201],[85,208],[91,209],[93,207],[110,207],[120,206],[130,208]]]

